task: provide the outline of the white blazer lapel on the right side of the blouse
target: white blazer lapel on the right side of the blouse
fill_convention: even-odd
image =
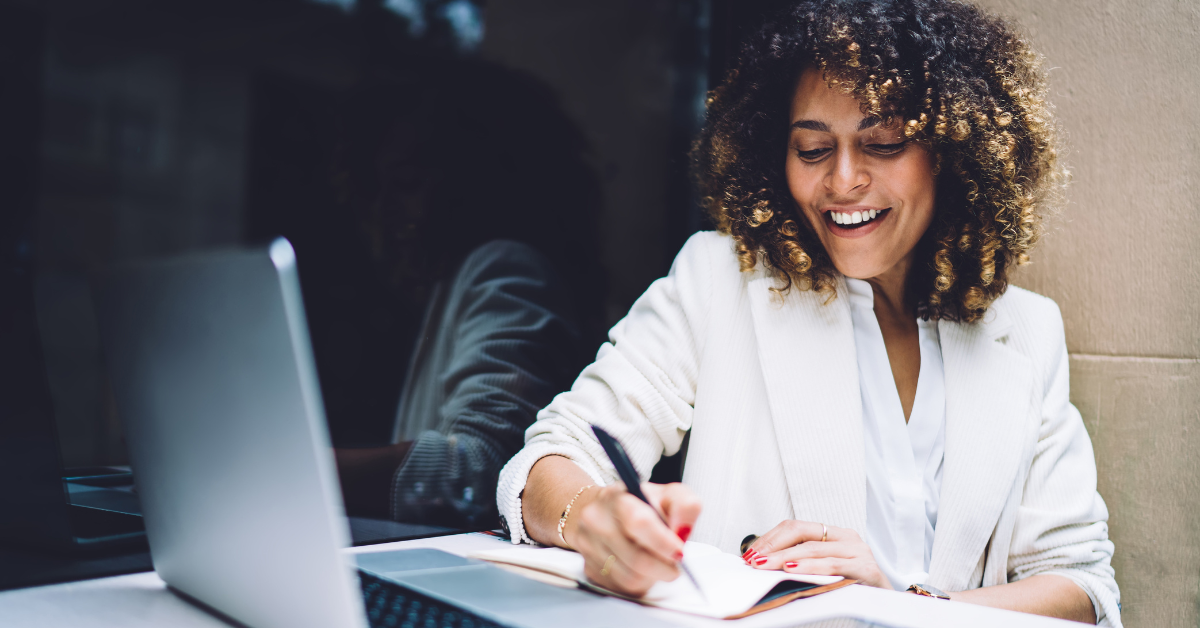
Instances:
[[[998,304],[997,304],[998,305]],[[985,322],[938,324],[946,370],[946,461],[930,581],[962,591],[1008,501],[1034,408],[1032,364],[1004,346],[1002,307]],[[1032,412],[1036,414],[1036,412]]]

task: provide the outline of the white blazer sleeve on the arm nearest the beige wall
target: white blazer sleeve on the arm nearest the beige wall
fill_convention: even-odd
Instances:
[[[1049,300],[1048,300],[1049,301]],[[1069,401],[1067,343],[1052,301],[1052,347],[1042,425],[1008,556],[1008,580],[1054,574],[1091,598],[1100,626],[1121,626],[1121,593],[1110,561],[1109,512],[1096,490],[1096,456],[1084,419]]]

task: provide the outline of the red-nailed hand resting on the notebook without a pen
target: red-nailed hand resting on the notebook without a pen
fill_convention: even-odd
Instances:
[[[793,574],[840,575],[864,585],[892,588],[875,555],[853,530],[788,520],[758,537],[742,560],[755,569],[782,569]]]

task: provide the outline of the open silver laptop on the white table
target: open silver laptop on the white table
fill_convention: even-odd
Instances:
[[[287,240],[120,267],[96,288],[155,569],[186,598],[252,628],[426,626],[439,604],[432,626],[659,623],[436,550],[352,562]]]

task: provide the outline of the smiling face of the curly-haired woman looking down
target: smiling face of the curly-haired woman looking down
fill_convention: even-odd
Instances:
[[[847,277],[907,276],[934,220],[934,155],[806,70],[791,106],[787,187]]]

